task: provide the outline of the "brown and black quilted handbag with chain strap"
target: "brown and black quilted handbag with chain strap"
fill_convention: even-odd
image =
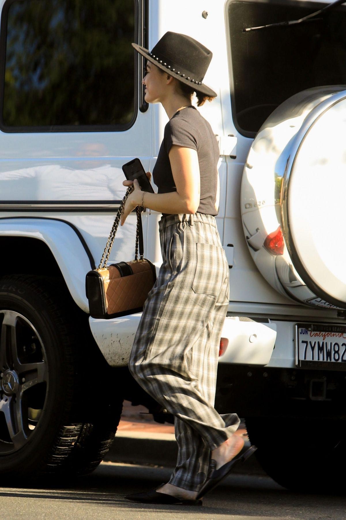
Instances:
[[[156,269],[150,260],[143,258],[143,229],[141,208],[137,206],[137,226],[134,260],[118,262],[107,267],[108,257],[114,242],[125,202],[132,191],[130,186],[114,220],[98,269],[86,276],[86,293],[89,311],[93,318],[116,318],[139,313],[148,292],[156,281]],[[140,258],[138,258],[138,250]]]

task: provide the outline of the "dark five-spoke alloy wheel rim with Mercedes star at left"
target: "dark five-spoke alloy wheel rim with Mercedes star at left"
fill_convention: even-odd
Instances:
[[[48,391],[46,353],[35,327],[0,309],[0,457],[34,435]]]

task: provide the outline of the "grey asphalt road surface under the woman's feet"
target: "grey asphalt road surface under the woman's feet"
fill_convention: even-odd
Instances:
[[[0,518],[126,520],[325,520],[346,518],[346,498],[289,492],[266,476],[232,475],[205,497],[202,508],[135,504],[123,495],[167,482],[163,467],[102,463],[87,477],[63,484],[0,488]],[[23,487],[25,485],[25,487]]]

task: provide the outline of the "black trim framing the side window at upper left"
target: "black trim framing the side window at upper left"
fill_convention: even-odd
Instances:
[[[133,50],[134,59],[134,113],[131,121],[126,124],[115,125],[50,125],[50,126],[6,126],[3,121],[4,113],[4,87],[5,87],[5,62],[6,62],[6,42],[7,42],[7,17],[8,10],[13,2],[30,2],[30,0],[6,0],[3,5],[0,20],[0,131],[6,134],[17,133],[51,133],[51,132],[124,132],[134,125],[139,110],[138,91],[139,82],[137,81],[139,75],[138,57]],[[146,7],[147,0],[134,0],[134,33],[135,43],[139,43],[139,35],[142,34],[140,28],[139,12],[141,3],[141,10]],[[141,20],[141,24],[142,24]]]

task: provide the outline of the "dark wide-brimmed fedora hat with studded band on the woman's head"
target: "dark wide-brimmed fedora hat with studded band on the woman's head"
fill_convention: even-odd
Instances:
[[[151,52],[136,43],[132,46],[144,58],[178,81],[190,85],[206,96],[217,96],[214,90],[203,83],[213,53],[191,36],[169,31],[162,36]]]

